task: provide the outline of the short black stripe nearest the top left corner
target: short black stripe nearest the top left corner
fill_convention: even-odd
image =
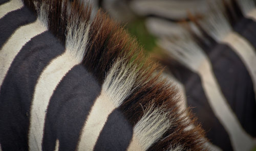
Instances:
[[[28,8],[20,8],[18,10],[9,12],[3,18],[0,19],[0,49],[9,37],[20,26],[32,23],[36,20],[36,16],[33,15]]]

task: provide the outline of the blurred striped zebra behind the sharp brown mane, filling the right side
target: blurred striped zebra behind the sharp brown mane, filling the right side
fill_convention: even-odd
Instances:
[[[106,0],[98,4],[121,21],[146,18],[148,31],[163,49],[155,53],[168,68],[166,77],[184,90],[187,106],[194,107],[207,138],[219,147],[215,149],[255,146],[254,1]]]

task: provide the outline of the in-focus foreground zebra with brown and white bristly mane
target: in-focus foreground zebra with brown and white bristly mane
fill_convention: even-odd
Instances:
[[[176,86],[82,1],[0,1],[0,150],[209,150]]]

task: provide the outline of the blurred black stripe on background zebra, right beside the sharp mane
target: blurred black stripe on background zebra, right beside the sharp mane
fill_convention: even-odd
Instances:
[[[206,137],[221,149],[232,150],[227,132],[209,106],[199,75],[182,65],[177,65],[174,75],[183,83],[187,96],[187,105],[193,107],[191,109],[201,122],[202,128],[206,131]]]

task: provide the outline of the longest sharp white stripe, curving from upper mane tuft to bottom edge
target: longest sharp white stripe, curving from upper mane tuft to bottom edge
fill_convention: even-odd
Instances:
[[[41,150],[47,107],[56,86],[65,74],[79,62],[66,51],[55,58],[41,73],[30,111],[29,150]]]

